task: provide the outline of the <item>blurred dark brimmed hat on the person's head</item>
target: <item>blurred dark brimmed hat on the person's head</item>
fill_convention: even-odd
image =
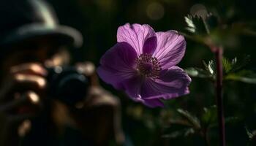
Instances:
[[[62,45],[80,47],[83,44],[80,32],[59,25],[52,7],[43,0],[1,1],[0,16],[0,46],[45,36]]]

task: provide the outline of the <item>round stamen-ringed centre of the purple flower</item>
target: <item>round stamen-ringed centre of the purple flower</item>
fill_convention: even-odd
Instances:
[[[136,59],[136,68],[146,77],[158,78],[159,72],[161,71],[161,66],[159,65],[159,61],[157,58],[153,58],[151,54],[141,54]]]

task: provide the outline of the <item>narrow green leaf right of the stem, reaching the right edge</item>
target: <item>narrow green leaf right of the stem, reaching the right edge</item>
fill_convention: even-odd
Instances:
[[[250,70],[241,70],[232,74],[227,74],[225,80],[235,80],[240,82],[246,82],[256,84],[256,74]]]

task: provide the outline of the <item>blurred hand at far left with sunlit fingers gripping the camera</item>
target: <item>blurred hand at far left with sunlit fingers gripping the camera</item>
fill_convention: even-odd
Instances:
[[[40,64],[13,66],[0,88],[0,145],[18,145],[41,106],[47,71]]]

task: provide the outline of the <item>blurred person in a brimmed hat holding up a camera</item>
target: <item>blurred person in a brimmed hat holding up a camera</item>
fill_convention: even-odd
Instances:
[[[59,25],[45,1],[9,0],[0,7],[0,145],[123,142],[119,101],[98,85],[94,64],[74,67],[86,77],[83,99],[49,95],[50,69],[69,65],[67,48],[80,47],[81,34]]]

